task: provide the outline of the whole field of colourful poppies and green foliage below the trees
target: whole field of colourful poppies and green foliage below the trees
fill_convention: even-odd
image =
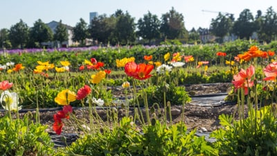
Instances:
[[[0,51],[0,102],[6,114],[0,118],[0,153],[277,155],[276,50],[274,42],[236,41]],[[226,101],[237,103],[238,110],[218,116],[222,128],[211,132],[214,142],[188,130],[184,115],[172,122],[172,106],[184,114],[190,102],[192,93],[184,85],[201,83],[233,84]],[[122,98],[114,96],[117,88]],[[47,126],[39,122],[39,109],[50,107],[60,107],[53,132],[62,134],[64,126],[78,132],[70,146],[53,148]],[[75,116],[80,107],[88,119]],[[105,110],[105,120],[96,107]],[[29,108],[35,114],[21,118],[21,109]]]

